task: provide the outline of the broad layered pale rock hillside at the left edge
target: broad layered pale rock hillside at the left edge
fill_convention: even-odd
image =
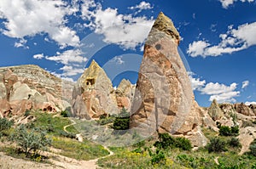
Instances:
[[[37,65],[0,68],[0,115],[22,115],[26,110],[65,110],[73,88]],[[63,100],[65,93],[66,101]],[[69,95],[69,97],[68,97]]]

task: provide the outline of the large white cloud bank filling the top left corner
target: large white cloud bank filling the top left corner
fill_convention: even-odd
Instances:
[[[8,37],[23,39],[47,33],[62,48],[78,46],[76,32],[65,25],[65,16],[76,10],[61,0],[1,0],[0,18]]]

